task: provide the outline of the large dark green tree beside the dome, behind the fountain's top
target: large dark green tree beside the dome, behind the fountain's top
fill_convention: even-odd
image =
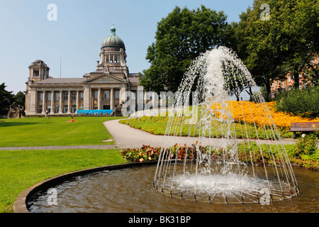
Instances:
[[[140,74],[147,91],[176,92],[192,60],[202,52],[227,45],[230,25],[223,11],[178,6],[157,24],[155,43],[147,48],[150,68]]]

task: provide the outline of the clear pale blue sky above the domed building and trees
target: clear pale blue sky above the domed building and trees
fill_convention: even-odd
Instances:
[[[175,6],[224,11],[228,22],[239,21],[239,14],[253,0],[0,0],[0,83],[16,94],[25,91],[28,66],[43,60],[51,77],[82,77],[96,70],[101,43],[116,35],[125,43],[131,73],[149,67],[147,47],[155,41],[157,22]],[[49,21],[49,4],[57,6],[57,21]]]

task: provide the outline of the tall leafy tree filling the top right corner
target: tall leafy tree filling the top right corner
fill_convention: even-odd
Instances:
[[[262,4],[269,6],[269,21],[261,19]],[[301,72],[311,71],[318,78],[311,65],[319,48],[318,13],[317,0],[255,0],[233,24],[234,50],[269,96],[271,80],[284,79],[288,73],[293,73],[296,87]]]

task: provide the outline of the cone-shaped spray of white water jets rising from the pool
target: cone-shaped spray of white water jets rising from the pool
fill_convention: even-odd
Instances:
[[[252,109],[247,111],[250,102],[245,102],[244,110],[243,101],[233,101],[245,89],[251,93],[252,87],[256,84],[250,72],[228,48],[208,51],[192,63],[177,92],[177,111],[169,113],[153,182],[157,191],[181,199],[227,204],[265,204],[298,194],[289,157],[262,95],[257,92],[253,96],[261,111],[258,123]],[[236,119],[234,112],[240,113]],[[179,154],[179,148],[172,150],[172,144],[185,126],[196,132],[196,143]],[[267,140],[259,139],[258,128]],[[210,140],[215,134],[223,141],[221,145]],[[194,142],[194,136],[189,133],[189,140]],[[268,144],[266,149],[264,143]],[[191,158],[187,158],[188,153]]]

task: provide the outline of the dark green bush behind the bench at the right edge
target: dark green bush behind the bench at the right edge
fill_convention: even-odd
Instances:
[[[319,117],[319,87],[282,92],[276,100],[276,111],[305,118]]]

